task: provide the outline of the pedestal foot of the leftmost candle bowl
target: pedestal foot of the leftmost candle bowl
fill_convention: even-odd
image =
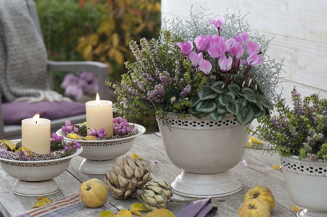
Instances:
[[[17,180],[12,188],[14,194],[26,197],[38,197],[56,194],[59,192],[59,186],[55,180],[46,181],[23,181]]]

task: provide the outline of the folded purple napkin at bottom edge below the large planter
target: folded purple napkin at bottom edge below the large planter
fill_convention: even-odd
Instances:
[[[218,208],[209,206],[212,203],[211,198],[197,200],[189,203],[183,209],[179,210],[176,217],[212,217],[217,214]]]

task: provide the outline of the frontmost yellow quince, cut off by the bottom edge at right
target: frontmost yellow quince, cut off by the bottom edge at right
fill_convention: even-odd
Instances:
[[[270,217],[270,212],[261,200],[249,199],[238,208],[237,217]]]

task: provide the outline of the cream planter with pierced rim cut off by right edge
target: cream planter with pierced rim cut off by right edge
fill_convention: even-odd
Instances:
[[[281,157],[287,192],[299,217],[327,217],[327,162]]]

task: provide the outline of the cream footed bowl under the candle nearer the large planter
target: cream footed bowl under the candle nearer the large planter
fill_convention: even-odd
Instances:
[[[129,123],[130,125],[132,123]],[[111,140],[77,140],[83,147],[83,152],[79,155],[85,158],[79,166],[79,170],[88,174],[106,174],[107,170],[112,169],[116,158],[126,154],[133,146],[137,136],[145,133],[145,128],[139,124],[133,124],[139,132],[135,135]],[[58,135],[65,140],[74,141],[67,138],[65,133],[60,129]]]

